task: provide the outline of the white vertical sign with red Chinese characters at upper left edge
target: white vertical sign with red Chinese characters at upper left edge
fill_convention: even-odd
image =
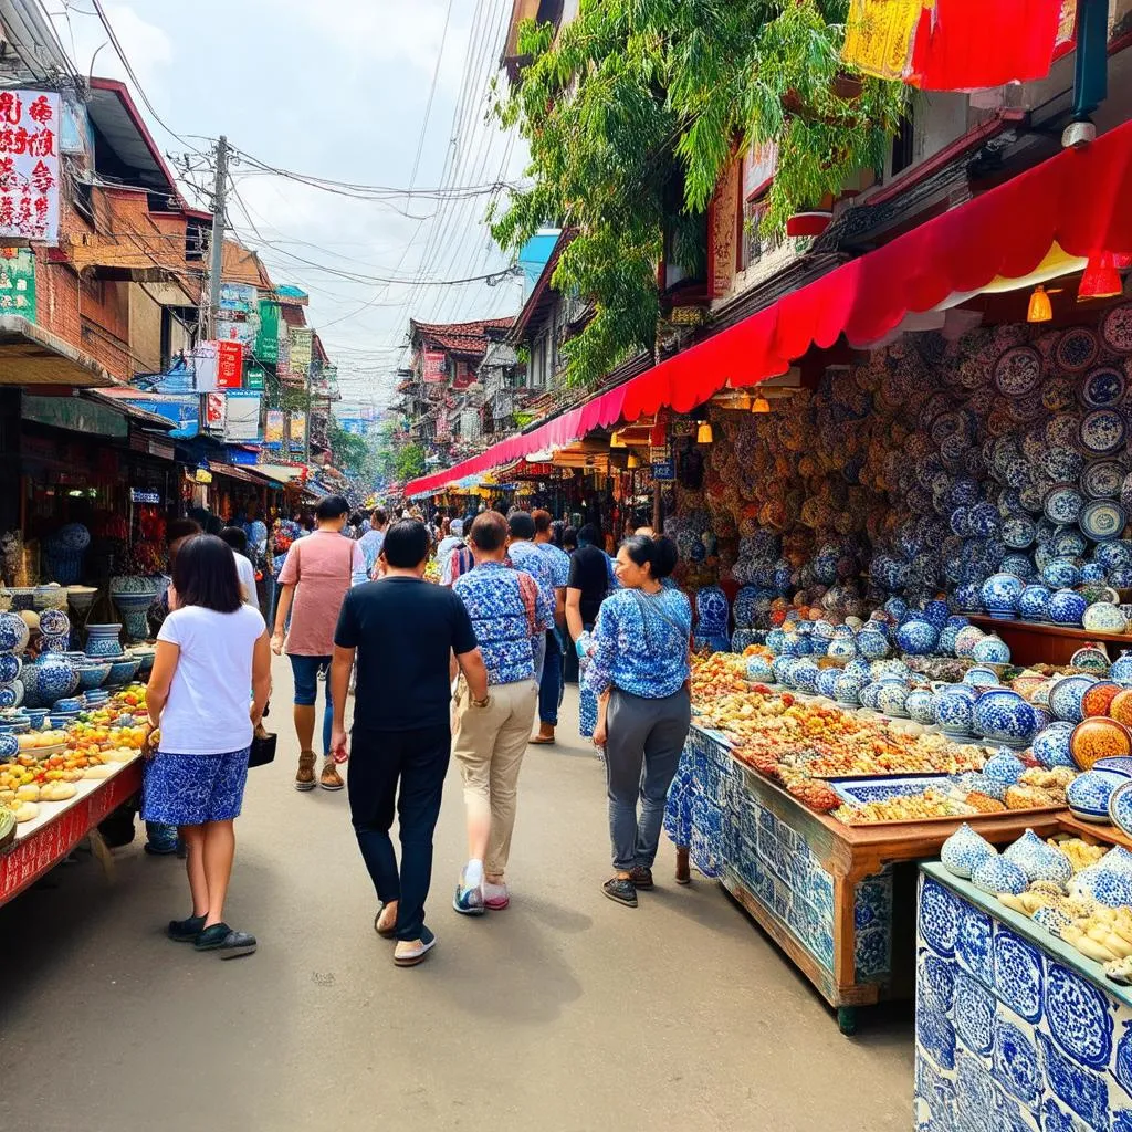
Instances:
[[[0,92],[0,239],[59,240],[59,95]]]

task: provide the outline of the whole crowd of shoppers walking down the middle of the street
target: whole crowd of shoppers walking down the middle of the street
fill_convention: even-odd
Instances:
[[[507,867],[526,747],[556,741],[565,655],[580,666],[580,728],[604,751],[614,875],[603,891],[635,907],[653,886],[664,801],[691,720],[692,610],[675,588],[675,544],[640,529],[616,561],[592,525],[546,511],[480,509],[427,525],[419,513],[351,514],[323,499],[312,530],[276,521],[201,534],[170,524],[172,580],[155,610],[153,751],[143,816],[151,840],[188,857],[191,915],[171,938],[224,958],[255,938],[223,919],[252,729],[269,657],[294,681],[294,786],[348,786],[351,821],[378,898],[374,927],[394,962],[421,962],[432,838],[444,780],[460,766],[468,858],[453,907],[482,916],[511,902]],[[254,543],[261,535],[263,549]],[[435,554],[440,585],[424,581]],[[263,569],[271,624],[259,615]],[[323,765],[314,748],[326,678]],[[346,701],[357,681],[352,730]],[[532,735],[535,714],[539,726]],[[340,767],[350,761],[343,781]],[[398,855],[391,838],[398,821]]]

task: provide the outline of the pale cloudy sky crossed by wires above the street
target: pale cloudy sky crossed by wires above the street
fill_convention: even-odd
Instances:
[[[127,79],[92,0],[45,0],[45,7],[79,70],[91,72],[93,59],[94,75]],[[185,139],[138,100],[168,153],[187,152],[186,142],[208,151],[192,135],[224,134],[264,165],[400,190],[478,188],[521,175],[522,143],[486,120],[511,7],[512,0],[103,0],[151,103]],[[410,314],[456,321],[520,306],[513,280],[428,285],[507,265],[483,223],[487,192],[357,199],[247,161],[233,178],[230,223],[276,282],[309,292],[308,318],[340,363],[346,396],[368,398],[388,387]],[[204,171],[196,179],[211,181]]]

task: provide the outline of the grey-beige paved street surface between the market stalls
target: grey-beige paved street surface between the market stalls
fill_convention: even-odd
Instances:
[[[530,748],[514,902],[481,920],[451,908],[464,848],[453,772],[430,906],[439,945],[395,969],[345,796],[291,788],[282,662],[275,676],[281,758],[251,772],[229,916],[258,954],[225,963],[163,937],[188,910],[181,866],[146,857],[140,832],[111,887],[86,855],[57,869],[0,910],[0,1126],[909,1126],[907,1011],[842,1038],[714,883],[670,883],[668,844],[662,887],[636,912],[602,897],[603,781],[576,739]],[[575,703],[571,691],[567,721]]]

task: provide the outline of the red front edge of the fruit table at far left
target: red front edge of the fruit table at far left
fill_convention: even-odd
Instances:
[[[142,789],[142,760],[114,767],[104,779],[84,779],[65,803],[43,803],[40,815],[18,826],[0,851],[0,904],[7,903],[59,864],[100,822]]]

